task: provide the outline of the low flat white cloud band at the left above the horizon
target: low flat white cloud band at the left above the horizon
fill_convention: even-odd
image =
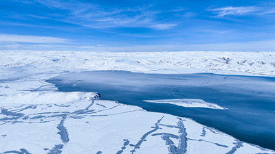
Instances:
[[[28,43],[68,43],[71,40],[64,38],[54,38],[48,36],[21,36],[14,34],[0,34],[0,42],[28,42]]]

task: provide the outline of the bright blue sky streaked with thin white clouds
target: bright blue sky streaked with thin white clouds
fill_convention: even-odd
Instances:
[[[0,50],[275,51],[274,0],[0,0]]]

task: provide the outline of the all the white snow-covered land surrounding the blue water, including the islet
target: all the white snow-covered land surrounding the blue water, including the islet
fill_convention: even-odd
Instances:
[[[97,92],[58,92],[45,82],[90,70],[274,76],[275,53],[0,51],[0,56],[0,153],[275,153],[190,118],[100,100]],[[202,100],[155,103],[166,101],[223,109]]]

